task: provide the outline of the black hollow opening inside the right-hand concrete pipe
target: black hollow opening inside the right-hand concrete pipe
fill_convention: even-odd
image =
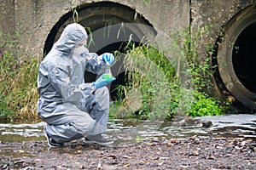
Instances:
[[[232,51],[232,64],[236,77],[245,88],[253,93],[256,93],[255,40],[256,22],[241,31]]]

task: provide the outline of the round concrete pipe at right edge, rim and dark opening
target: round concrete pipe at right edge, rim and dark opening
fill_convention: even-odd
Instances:
[[[224,86],[242,105],[256,110],[256,6],[241,11],[225,26],[218,47],[218,71]]]

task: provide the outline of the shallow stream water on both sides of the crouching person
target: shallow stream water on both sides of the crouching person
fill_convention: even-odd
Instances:
[[[108,134],[117,144],[137,143],[146,139],[185,139],[195,134],[198,137],[245,137],[256,139],[256,115],[238,114],[226,116],[195,117],[212,121],[212,127],[194,123],[186,127],[173,126],[172,122],[149,122],[134,120],[109,120]],[[44,122],[37,124],[0,124],[0,141],[45,140]]]

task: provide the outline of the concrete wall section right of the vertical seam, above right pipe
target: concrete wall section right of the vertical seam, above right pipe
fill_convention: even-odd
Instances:
[[[209,26],[209,33],[212,36],[210,41],[215,42],[222,27],[224,27],[236,14],[242,9],[255,4],[253,0],[191,0],[191,26],[194,31],[199,30],[203,26]],[[204,42],[199,42],[203,48]]]

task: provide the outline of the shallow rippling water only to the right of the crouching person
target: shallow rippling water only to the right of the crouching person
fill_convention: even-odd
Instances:
[[[137,139],[186,139],[198,137],[231,137],[256,139],[256,115],[225,115],[195,117],[199,123],[186,127],[173,126],[172,122],[134,122],[131,120],[113,120],[110,122],[111,133],[119,143],[137,142]],[[202,121],[211,121],[212,127],[202,127]]]

